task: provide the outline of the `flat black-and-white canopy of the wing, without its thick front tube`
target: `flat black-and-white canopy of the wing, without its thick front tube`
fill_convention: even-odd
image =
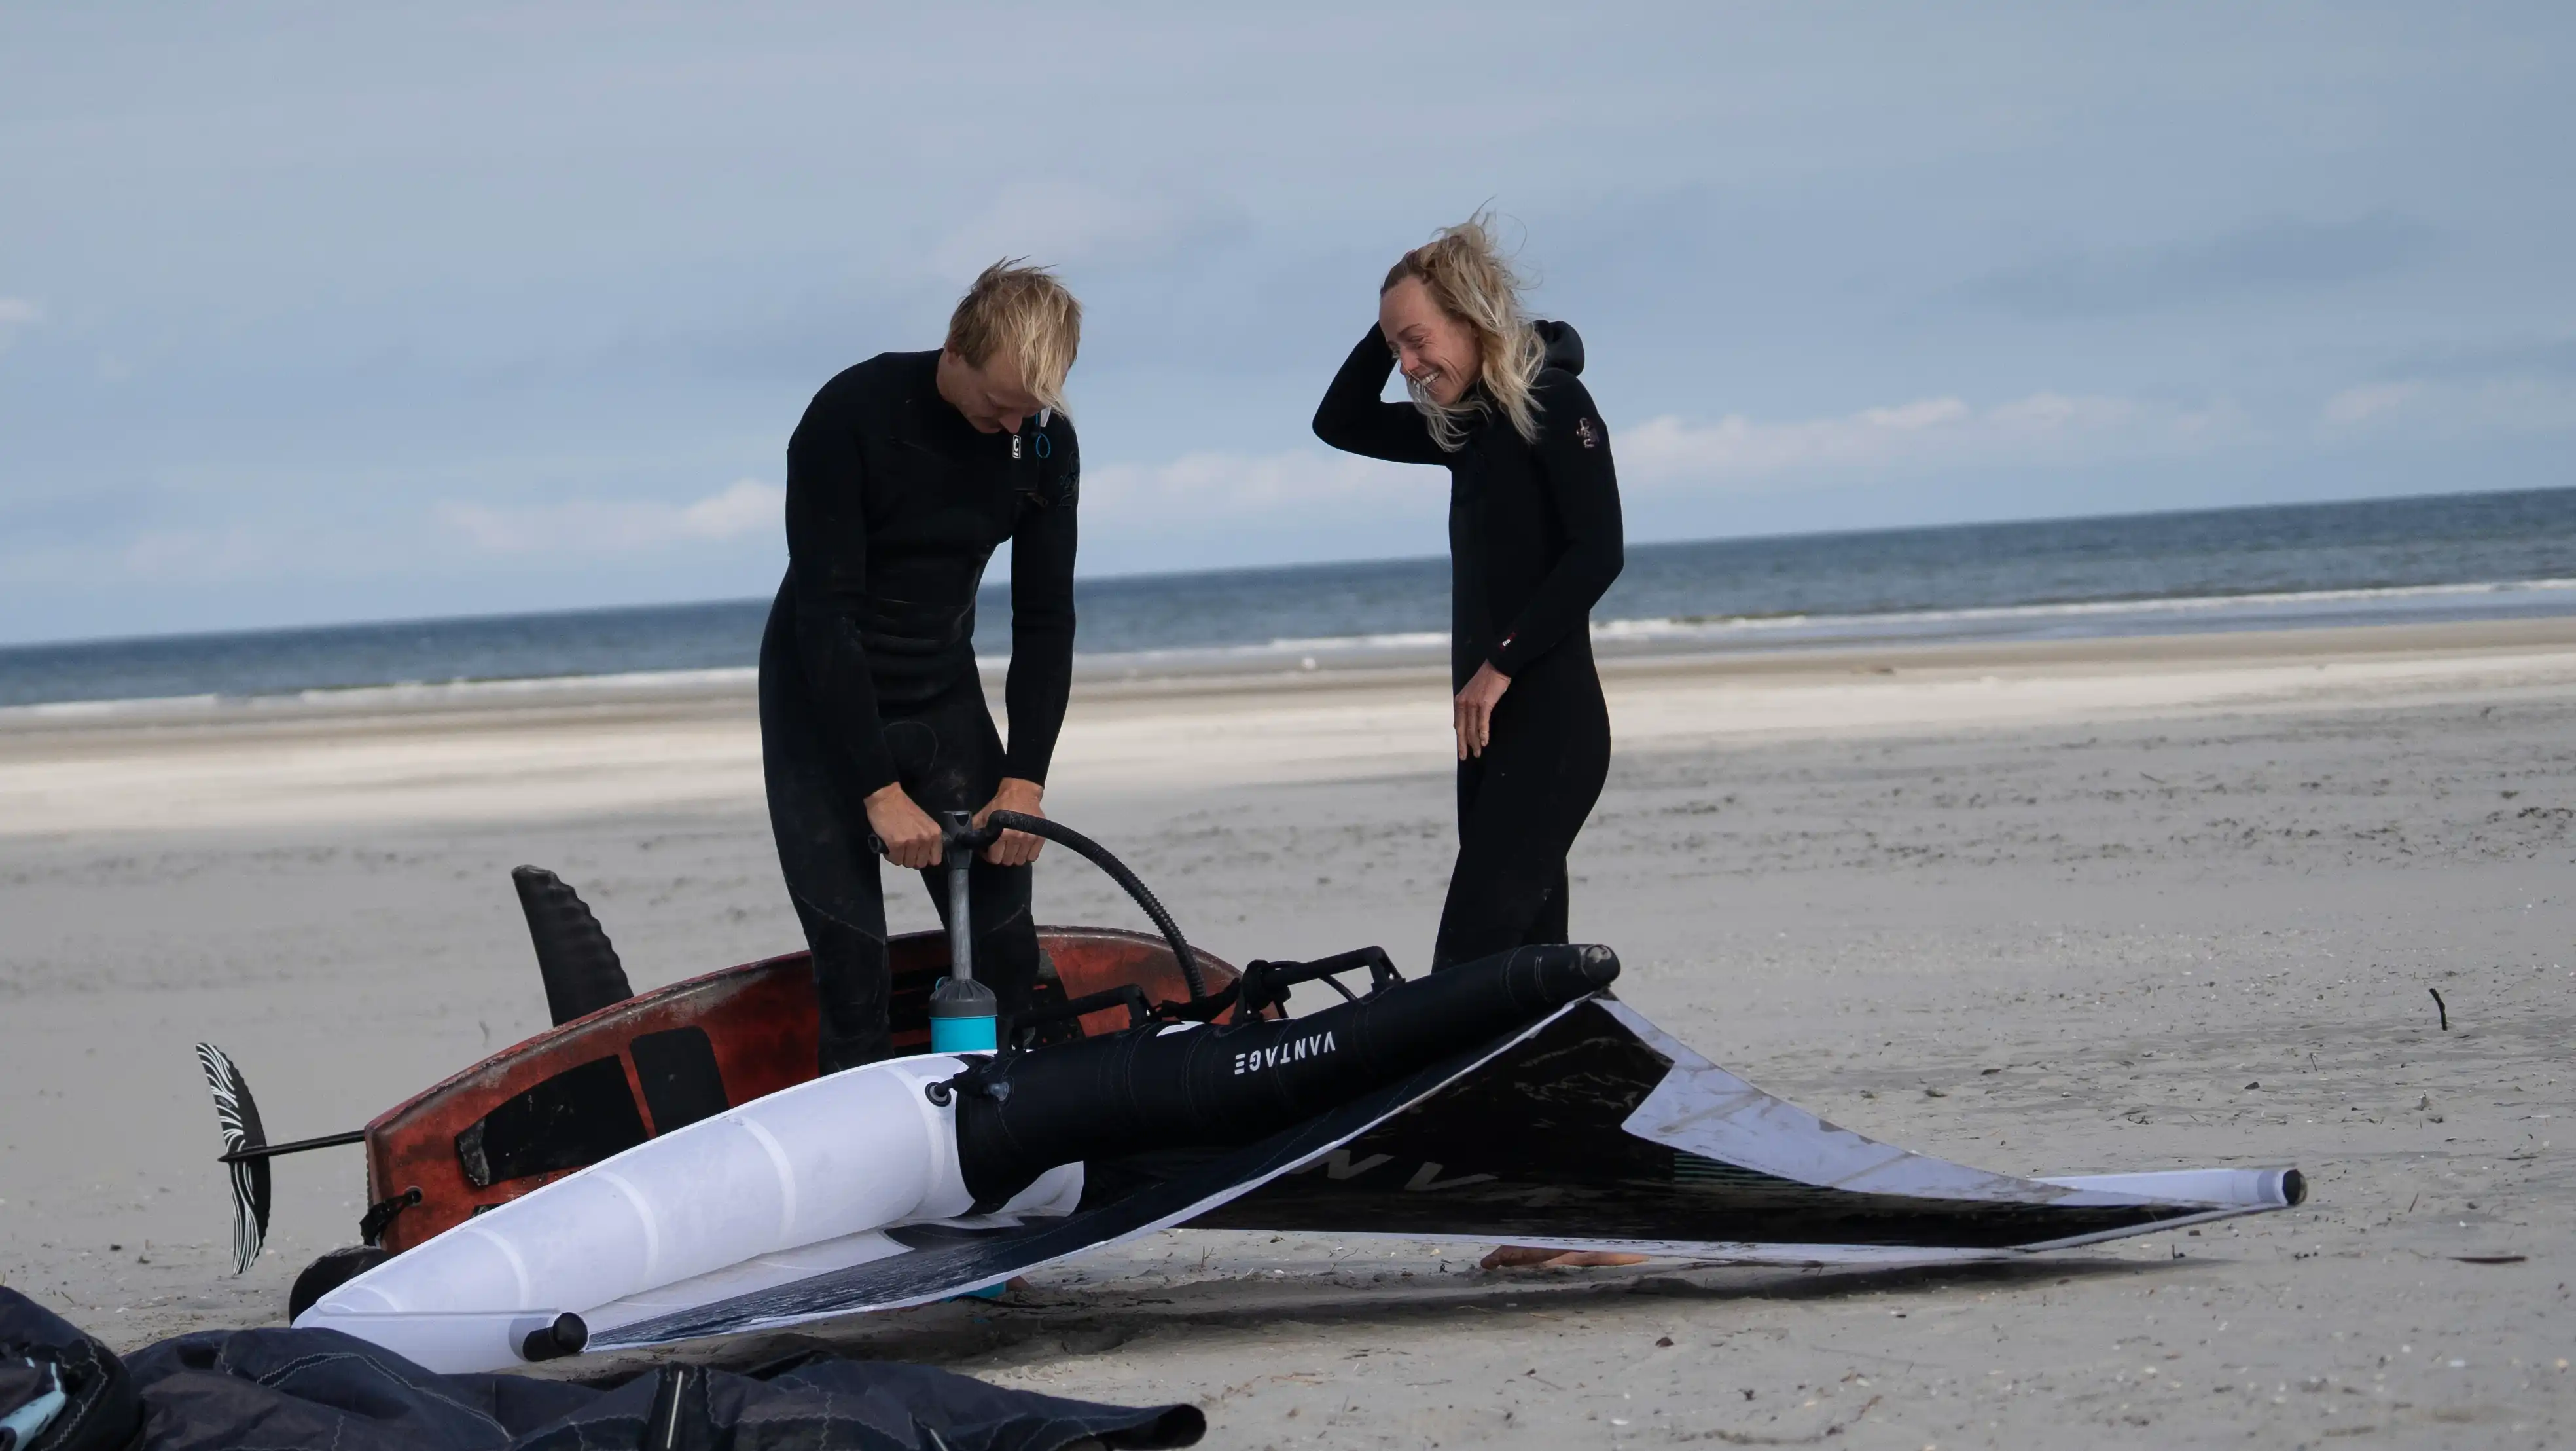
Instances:
[[[788,1283],[626,1322],[605,1307],[590,1345],[621,1350],[927,1304],[1175,1224],[1710,1263],[1945,1263],[2303,1198],[2295,1170],[2030,1180],[1896,1149],[1752,1088],[1607,995],[1257,1144],[1095,1162],[1084,1180],[1074,1214],[909,1224],[855,1247],[863,1263]],[[667,1307],[675,1289],[636,1299]]]

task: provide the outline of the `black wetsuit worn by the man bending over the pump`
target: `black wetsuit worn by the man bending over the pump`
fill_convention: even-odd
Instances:
[[[788,897],[814,948],[822,1070],[891,1054],[886,897],[868,794],[981,809],[1046,781],[1074,670],[1074,425],[976,433],[938,394],[938,353],[835,376],[788,438],[788,575],[760,639],[760,755]],[[984,562],[1010,552],[1010,747],[974,665]],[[925,871],[948,915],[945,869]],[[974,863],[976,979],[1005,1015],[1038,977],[1030,869]]]

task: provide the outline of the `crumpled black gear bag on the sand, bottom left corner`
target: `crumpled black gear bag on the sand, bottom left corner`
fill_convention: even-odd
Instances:
[[[5,1451],[1059,1451],[1193,1446],[1208,1425],[1188,1405],[1128,1410],[832,1356],[595,1387],[433,1376],[337,1330],[201,1330],[118,1361],[0,1289],[0,1428],[28,1407],[41,1428]]]

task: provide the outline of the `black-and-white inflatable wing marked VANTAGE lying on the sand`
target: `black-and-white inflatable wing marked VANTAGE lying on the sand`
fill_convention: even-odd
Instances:
[[[1615,972],[1522,948],[1303,1018],[868,1064],[502,1204],[296,1325],[464,1371],[925,1304],[1175,1224],[1937,1263],[2303,1198],[2298,1170],[2022,1180],[1893,1149],[1700,1059]]]

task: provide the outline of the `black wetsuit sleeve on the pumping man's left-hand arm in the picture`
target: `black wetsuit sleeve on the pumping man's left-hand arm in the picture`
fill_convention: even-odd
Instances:
[[[894,783],[894,755],[876,714],[876,680],[858,626],[868,595],[866,466],[850,418],[829,389],[788,436],[788,580],[796,660],[824,729],[850,753],[860,794]]]

